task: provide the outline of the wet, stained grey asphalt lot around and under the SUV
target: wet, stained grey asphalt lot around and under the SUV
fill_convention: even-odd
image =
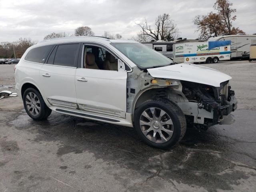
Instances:
[[[133,128],[52,112],[34,121],[18,97],[0,100],[0,192],[256,191],[256,62],[202,64],[233,77],[230,125],[188,128],[170,150]],[[14,91],[14,65],[0,65],[0,91]]]

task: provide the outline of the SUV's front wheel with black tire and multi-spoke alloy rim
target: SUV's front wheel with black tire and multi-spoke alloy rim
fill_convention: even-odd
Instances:
[[[170,148],[185,135],[186,118],[175,103],[158,98],[147,100],[136,108],[134,127],[140,138],[149,146]]]

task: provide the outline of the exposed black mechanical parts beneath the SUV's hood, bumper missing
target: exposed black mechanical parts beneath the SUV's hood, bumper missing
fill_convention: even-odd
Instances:
[[[235,93],[229,86],[229,80],[220,83],[220,87],[182,81],[182,93],[188,102],[197,104],[196,114],[187,114],[190,123],[197,128],[207,129],[224,120],[237,108]],[[193,116],[191,116],[193,115]],[[211,116],[211,118],[205,116]]]

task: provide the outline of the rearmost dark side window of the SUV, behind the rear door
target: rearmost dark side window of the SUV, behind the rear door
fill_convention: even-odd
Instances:
[[[28,52],[25,60],[37,63],[44,63],[53,46],[54,45],[36,47]]]

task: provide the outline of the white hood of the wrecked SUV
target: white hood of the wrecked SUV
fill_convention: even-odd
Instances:
[[[190,81],[214,87],[220,87],[220,83],[232,79],[218,70],[189,63],[150,68],[148,72],[154,78]]]

